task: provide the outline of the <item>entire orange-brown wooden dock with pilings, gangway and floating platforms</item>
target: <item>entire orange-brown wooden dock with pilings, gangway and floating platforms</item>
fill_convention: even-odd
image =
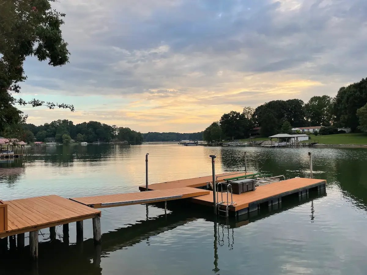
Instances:
[[[218,183],[228,177],[257,175],[251,172],[232,172],[216,175]],[[38,257],[38,233],[40,229],[50,228],[50,238],[55,238],[55,226],[63,225],[64,242],[69,243],[69,223],[76,222],[77,243],[83,242],[83,220],[92,219],[93,239],[96,244],[101,241],[101,211],[95,208],[134,205],[142,203],[167,202],[185,199],[187,203],[214,205],[213,191],[210,190],[212,176],[192,179],[167,181],[146,186],[139,186],[140,191],[124,194],[99,195],[66,199],[57,195],[34,198],[0,201],[0,250],[10,246],[24,247],[24,233],[29,232],[30,254]],[[326,186],[326,180],[293,178],[258,186],[254,191],[232,194],[229,212],[237,216],[259,209],[262,203],[267,206],[281,203],[283,197],[298,194],[307,195],[310,189],[321,190]],[[218,192],[227,196],[228,193]],[[228,203],[228,200],[227,200]],[[218,209],[219,210],[219,209]],[[216,210],[215,210],[216,211]],[[227,212],[226,212],[227,213]],[[15,237],[17,236],[17,237]]]

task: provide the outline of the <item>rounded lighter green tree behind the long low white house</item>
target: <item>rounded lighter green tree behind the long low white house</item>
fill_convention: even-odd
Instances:
[[[311,126],[330,126],[333,121],[333,99],[328,95],[313,96],[305,105]]]

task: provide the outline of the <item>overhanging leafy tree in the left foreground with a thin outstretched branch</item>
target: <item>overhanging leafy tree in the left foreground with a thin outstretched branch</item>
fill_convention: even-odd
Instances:
[[[13,92],[20,92],[19,83],[27,78],[23,70],[27,56],[36,56],[39,61],[48,59],[52,66],[62,66],[69,61],[68,44],[60,29],[65,14],[51,10],[50,2],[54,1],[9,0],[0,3],[0,18],[3,19],[0,21],[0,131],[7,125],[17,127],[26,120],[27,116],[14,104],[74,110],[68,104],[36,99],[27,102],[12,96]]]

